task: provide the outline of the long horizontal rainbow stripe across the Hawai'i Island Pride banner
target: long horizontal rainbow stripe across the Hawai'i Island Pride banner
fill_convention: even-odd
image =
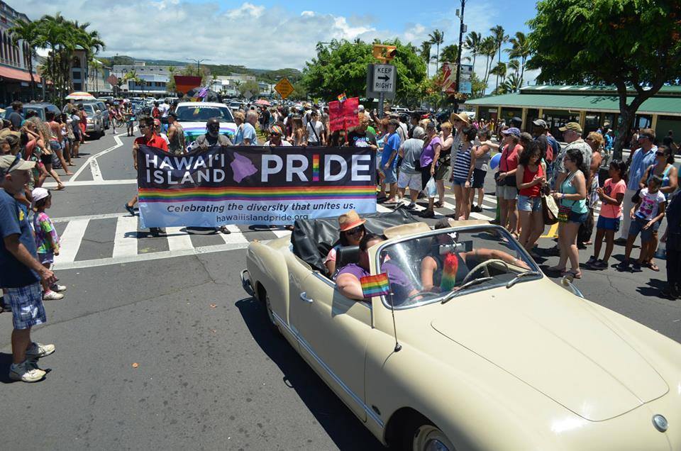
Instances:
[[[319,174],[318,176],[319,177]],[[182,189],[153,189],[140,186],[145,202],[189,201],[294,201],[314,199],[367,199],[376,197],[375,186],[224,186]]]

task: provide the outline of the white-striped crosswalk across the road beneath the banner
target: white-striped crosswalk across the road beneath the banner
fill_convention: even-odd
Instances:
[[[445,215],[454,213],[453,196],[446,196],[443,208],[435,209],[435,218],[443,218]],[[426,209],[427,201],[419,199],[411,213],[418,217],[419,213]],[[471,218],[491,220],[495,214],[495,200],[491,196],[485,196],[485,211],[483,213],[471,213]],[[394,204],[377,204],[378,213],[394,211]],[[198,255],[210,252],[223,252],[225,250],[243,249],[253,240],[267,241],[275,238],[290,236],[291,232],[285,228],[249,228],[246,226],[227,225],[230,233],[197,233],[192,228],[168,227],[165,235],[158,238],[151,237],[147,230],[139,230],[138,216],[129,216],[128,213],[104,213],[92,216],[68,216],[52,218],[56,224],[66,223],[66,227],[60,234],[61,253],[55,258],[55,269],[75,269],[82,267],[116,265],[128,262],[159,260],[163,258],[178,257],[182,255]],[[88,241],[88,226],[93,221],[97,222],[97,228],[111,230],[109,246],[113,242],[113,250],[109,247],[109,256],[102,251],[103,258],[94,260],[76,260],[79,250],[84,241]],[[204,230],[205,231],[205,230]],[[105,232],[105,234],[108,232]],[[219,237],[216,238],[216,237]],[[162,244],[165,240],[167,245]],[[99,243],[101,238],[89,240],[89,243]],[[167,249],[167,250],[166,250]],[[85,255],[88,252],[84,252]],[[87,258],[87,257],[85,257]]]

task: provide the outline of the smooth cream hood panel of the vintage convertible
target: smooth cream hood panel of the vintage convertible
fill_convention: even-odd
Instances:
[[[431,325],[590,421],[619,416],[668,392],[660,374],[587,301],[543,281],[515,288],[454,299],[451,314]]]

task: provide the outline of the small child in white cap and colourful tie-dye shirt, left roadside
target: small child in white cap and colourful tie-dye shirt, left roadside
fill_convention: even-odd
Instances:
[[[45,188],[33,189],[33,205],[35,215],[33,215],[33,231],[35,232],[35,247],[38,250],[38,261],[44,267],[50,269],[55,261],[55,255],[59,255],[59,236],[52,224],[52,220],[45,210],[52,206],[52,194]],[[64,297],[60,291],[65,291],[66,286],[52,286],[43,283],[43,299],[45,301],[56,301]]]

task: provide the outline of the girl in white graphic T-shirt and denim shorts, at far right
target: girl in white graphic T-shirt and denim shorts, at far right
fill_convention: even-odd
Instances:
[[[633,220],[629,226],[629,236],[626,238],[626,249],[624,250],[624,260],[616,266],[619,271],[629,269],[629,255],[633,242],[636,241],[638,233],[641,233],[641,255],[638,260],[633,262],[633,271],[641,271],[641,263],[648,258],[646,243],[653,239],[653,232],[660,228],[662,218],[665,217],[665,195],[660,191],[662,177],[655,175],[648,179],[648,186],[641,189],[639,199],[631,211],[629,217]],[[652,256],[651,256],[652,257]]]

